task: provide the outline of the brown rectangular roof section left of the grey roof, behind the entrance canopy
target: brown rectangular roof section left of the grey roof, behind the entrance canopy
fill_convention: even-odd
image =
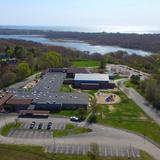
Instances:
[[[30,105],[32,103],[32,99],[17,99],[17,98],[11,98],[7,101],[7,104],[11,105]]]

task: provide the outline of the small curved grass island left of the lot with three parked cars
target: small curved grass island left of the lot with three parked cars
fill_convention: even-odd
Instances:
[[[21,123],[17,123],[17,124],[14,124],[14,123],[9,123],[9,124],[6,124],[2,129],[1,129],[1,135],[2,136],[8,136],[9,132],[11,131],[11,129],[16,129],[16,128],[19,128],[21,125]]]

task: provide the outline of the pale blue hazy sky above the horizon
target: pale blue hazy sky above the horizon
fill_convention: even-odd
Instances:
[[[160,0],[0,0],[0,25],[160,30]]]

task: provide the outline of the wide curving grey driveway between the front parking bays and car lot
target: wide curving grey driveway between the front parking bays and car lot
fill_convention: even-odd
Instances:
[[[5,125],[5,123],[13,122],[15,120],[15,116],[11,117],[1,117],[0,118],[0,128]],[[63,119],[62,119],[63,120]],[[80,125],[83,125],[80,124]],[[152,155],[156,160],[159,160],[160,157],[160,149],[152,144],[151,142],[143,139],[143,137],[137,136],[132,133],[128,133],[119,129],[114,129],[98,124],[94,124],[89,126],[93,132],[87,134],[81,134],[77,136],[70,136],[64,138],[43,138],[43,139],[35,139],[35,138],[14,138],[14,137],[3,137],[0,136],[1,143],[9,143],[9,144],[30,144],[30,145],[89,145],[90,143],[97,143],[98,145],[109,145],[109,146],[121,146],[121,147],[135,147],[137,149],[141,149]]]

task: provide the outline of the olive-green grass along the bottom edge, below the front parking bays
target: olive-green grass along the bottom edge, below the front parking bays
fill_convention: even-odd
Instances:
[[[2,160],[90,160],[87,155],[46,153],[41,147],[25,145],[0,144],[0,155]],[[152,157],[144,152],[141,152],[141,156],[143,160],[153,160]],[[100,158],[100,160],[128,160],[128,158],[108,157]]]

